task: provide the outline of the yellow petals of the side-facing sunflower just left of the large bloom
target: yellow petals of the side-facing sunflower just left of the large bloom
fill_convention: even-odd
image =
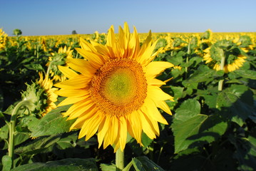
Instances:
[[[40,79],[38,81],[39,86],[43,88],[44,92],[47,95],[46,100],[46,108],[44,108],[44,112],[42,113],[42,116],[46,115],[48,112],[56,108],[56,104],[54,102],[57,101],[58,95],[54,93],[58,88],[53,88],[53,82],[46,76],[46,78],[43,78],[43,74],[39,73]]]

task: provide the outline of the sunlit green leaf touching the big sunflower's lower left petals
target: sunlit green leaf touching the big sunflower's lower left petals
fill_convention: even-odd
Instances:
[[[75,120],[66,120],[61,114],[68,110],[70,105],[61,106],[47,113],[34,128],[31,127],[31,136],[39,137],[43,135],[54,135],[58,133],[67,133]]]

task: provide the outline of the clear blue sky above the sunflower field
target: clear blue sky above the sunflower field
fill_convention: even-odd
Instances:
[[[256,31],[256,0],[1,0],[0,28],[10,36],[106,33],[128,22],[139,33]]]

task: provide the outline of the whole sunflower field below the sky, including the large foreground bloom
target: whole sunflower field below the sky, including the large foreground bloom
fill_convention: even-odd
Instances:
[[[1,170],[256,170],[256,33],[8,36]]]

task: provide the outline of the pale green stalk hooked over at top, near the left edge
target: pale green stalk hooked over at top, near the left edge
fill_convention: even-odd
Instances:
[[[11,157],[11,167],[13,167],[14,164],[14,133],[15,133],[15,125],[16,125],[16,118],[19,112],[19,109],[21,107],[23,107],[24,105],[29,104],[29,100],[22,100],[21,102],[19,102],[14,110],[12,110],[11,113],[11,121],[9,123],[9,145],[8,145],[8,155],[9,157]]]

